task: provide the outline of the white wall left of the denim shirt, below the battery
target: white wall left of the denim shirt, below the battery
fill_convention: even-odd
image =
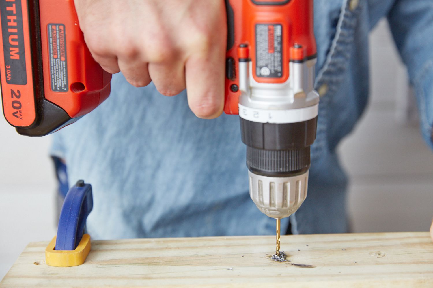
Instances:
[[[20,136],[0,116],[0,279],[31,241],[55,236],[50,137]]]

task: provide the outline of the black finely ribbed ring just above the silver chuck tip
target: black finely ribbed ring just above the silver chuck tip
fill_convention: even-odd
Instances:
[[[255,174],[289,177],[307,172],[310,164],[310,147],[293,150],[246,148],[246,165]]]

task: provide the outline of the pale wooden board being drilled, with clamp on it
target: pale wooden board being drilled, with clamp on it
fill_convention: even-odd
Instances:
[[[433,287],[427,232],[293,235],[291,262],[268,259],[274,237],[92,241],[81,266],[45,264],[48,242],[30,243],[0,287]],[[313,265],[301,268],[291,264]]]

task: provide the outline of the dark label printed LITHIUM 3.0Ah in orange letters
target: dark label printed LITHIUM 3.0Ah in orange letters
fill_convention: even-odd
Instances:
[[[21,1],[0,2],[6,83],[27,84]]]

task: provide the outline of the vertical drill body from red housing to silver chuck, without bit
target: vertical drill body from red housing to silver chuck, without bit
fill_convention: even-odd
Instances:
[[[307,196],[316,138],[313,0],[230,0],[227,6],[234,25],[228,13],[225,111],[240,117],[251,199],[281,219]]]

